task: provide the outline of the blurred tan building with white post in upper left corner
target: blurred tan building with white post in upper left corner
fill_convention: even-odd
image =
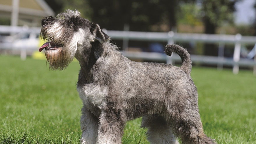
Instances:
[[[41,26],[54,11],[44,0],[0,0],[0,25]]]

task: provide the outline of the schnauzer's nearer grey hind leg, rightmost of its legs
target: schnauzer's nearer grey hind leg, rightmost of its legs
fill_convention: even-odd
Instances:
[[[197,101],[189,97],[179,96],[166,113],[166,121],[172,127],[175,136],[178,136],[183,144],[215,144],[215,141],[204,134]]]

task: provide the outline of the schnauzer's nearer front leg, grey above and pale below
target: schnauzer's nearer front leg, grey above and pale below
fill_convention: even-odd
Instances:
[[[122,110],[102,110],[99,117],[97,144],[121,144],[126,116]]]

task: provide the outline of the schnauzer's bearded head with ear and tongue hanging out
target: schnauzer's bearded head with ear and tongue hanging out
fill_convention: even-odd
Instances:
[[[98,24],[80,17],[77,10],[66,10],[56,17],[42,19],[41,37],[49,42],[43,44],[39,51],[45,49],[45,56],[53,70],[66,68],[77,50],[91,48],[91,42],[110,40]]]

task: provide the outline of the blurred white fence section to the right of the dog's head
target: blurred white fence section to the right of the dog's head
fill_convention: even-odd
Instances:
[[[111,36],[114,40],[123,40],[123,54],[129,58],[143,58],[148,60],[166,60],[166,63],[173,63],[173,61],[180,61],[179,56],[173,55],[168,57],[159,53],[147,53],[147,52],[131,52],[126,51],[129,40],[143,40],[143,41],[162,41],[168,44],[174,44],[175,41],[179,42],[204,42],[219,44],[218,56],[201,56],[191,55],[193,62],[217,64],[218,68],[222,69],[223,65],[232,65],[233,73],[239,72],[239,65],[253,66],[253,73],[256,75],[256,57],[254,60],[247,58],[240,58],[241,45],[255,45],[256,54],[256,37],[255,36],[242,36],[237,35],[218,35],[218,34],[198,34],[198,33],[174,33],[170,31],[168,33],[163,32],[135,32],[135,31],[108,31],[104,32]],[[233,59],[224,57],[224,45],[234,44]]]

